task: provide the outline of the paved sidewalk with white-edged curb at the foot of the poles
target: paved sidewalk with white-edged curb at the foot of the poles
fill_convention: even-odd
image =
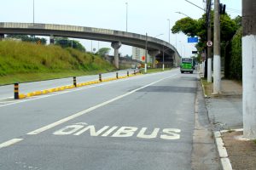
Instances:
[[[212,83],[203,82],[208,116],[212,130],[215,132],[223,169],[256,169],[256,142],[241,140],[243,121],[241,84],[222,80],[222,94],[212,95]]]

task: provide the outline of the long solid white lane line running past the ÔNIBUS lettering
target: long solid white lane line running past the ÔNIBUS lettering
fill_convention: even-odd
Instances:
[[[175,76],[177,76],[177,74],[172,75],[172,77],[175,77]],[[76,117],[78,117],[78,116],[82,116],[82,115],[84,115],[84,114],[86,114],[86,113],[88,113],[88,112],[90,112],[90,111],[94,111],[94,110],[96,110],[97,108],[102,107],[103,105],[108,105],[108,104],[112,103],[112,102],[115,101],[115,100],[122,99],[122,98],[124,98],[125,96],[128,96],[128,95],[130,95],[130,94],[133,94],[133,93],[137,92],[137,91],[140,90],[140,89],[147,88],[148,86],[151,86],[151,85],[153,85],[153,84],[155,84],[155,83],[157,83],[157,82],[166,80],[166,79],[168,79],[168,78],[171,78],[171,77],[166,77],[166,78],[162,78],[162,79],[160,79],[160,80],[158,80],[158,81],[156,81],[156,82],[151,82],[151,83],[149,83],[148,85],[143,86],[142,88],[137,88],[137,89],[132,90],[131,92],[128,92],[128,93],[126,93],[126,94],[119,95],[118,97],[113,98],[113,99],[109,99],[108,101],[105,101],[105,102],[103,102],[102,104],[95,105],[95,106],[93,106],[93,107],[90,107],[89,109],[86,109],[86,110],[84,110],[84,111],[80,111],[80,112],[78,112],[78,113],[75,113],[75,114],[73,114],[72,116],[67,116],[67,117],[65,117],[65,118],[63,118],[63,119],[61,119],[61,120],[59,120],[59,121],[57,121],[57,122],[53,122],[53,123],[51,123],[51,124],[49,124],[49,125],[47,125],[47,126],[45,126],[45,127],[38,128],[37,130],[34,130],[34,131],[32,131],[32,132],[30,132],[30,133],[27,133],[27,134],[38,134],[38,133],[42,133],[42,132],[44,132],[44,131],[46,131],[46,130],[52,128],[52,127],[56,127],[56,126],[58,126],[58,125],[60,125],[60,124],[62,124],[62,123],[64,123],[64,122],[68,122],[68,121],[70,121],[70,120],[72,120],[72,119],[74,119],[74,118],[76,118]]]

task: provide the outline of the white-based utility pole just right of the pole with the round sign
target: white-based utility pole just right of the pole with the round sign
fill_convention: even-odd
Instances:
[[[214,0],[213,94],[220,94],[220,17],[219,0]]]

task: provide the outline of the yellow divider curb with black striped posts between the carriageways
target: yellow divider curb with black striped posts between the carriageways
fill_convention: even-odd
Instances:
[[[101,77],[101,81],[95,80],[95,81],[81,82],[81,83],[77,83],[76,77],[73,77],[73,85],[61,86],[61,87],[57,87],[57,88],[49,88],[49,89],[45,89],[45,90],[31,92],[28,94],[19,94],[19,84],[15,83],[15,97],[16,97],[15,99],[25,99],[25,98],[29,98],[29,97],[37,96],[37,95],[41,95],[41,94],[49,94],[49,93],[59,92],[59,91],[72,89],[72,88],[80,88],[80,87],[88,86],[91,84],[97,84],[97,83],[101,83],[101,82],[109,82],[109,81],[119,80],[122,78],[135,77],[138,75],[141,75],[141,73],[137,72],[136,74],[130,74],[129,76],[111,77],[111,78],[106,78],[106,79],[102,79],[102,77]]]

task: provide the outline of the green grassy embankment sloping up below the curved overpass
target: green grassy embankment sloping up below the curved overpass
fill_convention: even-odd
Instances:
[[[98,55],[30,42],[0,42],[0,85],[113,71]]]

